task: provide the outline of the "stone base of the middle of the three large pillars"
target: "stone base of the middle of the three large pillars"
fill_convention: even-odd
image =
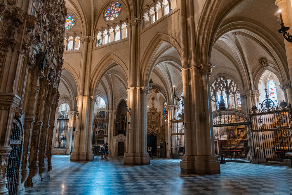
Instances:
[[[124,165],[150,165],[148,153],[125,153]]]

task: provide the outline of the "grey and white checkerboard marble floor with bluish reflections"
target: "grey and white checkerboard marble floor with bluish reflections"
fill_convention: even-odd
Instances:
[[[25,194],[292,194],[292,168],[284,166],[227,162],[219,175],[186,175],[178,159],[125,166],[122,157],[70,162],[53,156],[52,164],[51,177]]]

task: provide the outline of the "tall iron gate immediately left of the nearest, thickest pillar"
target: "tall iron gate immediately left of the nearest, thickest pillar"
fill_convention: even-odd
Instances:
[[[185,155],[185,128],[183,120],[171,120],[171,157]]]

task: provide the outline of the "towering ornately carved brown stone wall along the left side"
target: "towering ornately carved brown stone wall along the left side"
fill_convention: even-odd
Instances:
[[[33,3],[38,8],[36,13],[32,11]],[[3,4],[6,9],[0,10],[0,194],[7,193],[6,165],[13,118],[19,118],[24,128],[17,181],[21,194],[25,187],[50,176],[67,11],[64,0],[8,0]]]

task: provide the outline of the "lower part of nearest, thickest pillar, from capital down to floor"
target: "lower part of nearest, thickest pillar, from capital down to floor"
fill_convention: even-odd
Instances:
[[[193,65],[191,69],[182,68],[182,71],[185,155],[182,156],[180,170],[183,173],[218,174],[220,164],[218,156],[215,156],[211,111],[211,65]]]

